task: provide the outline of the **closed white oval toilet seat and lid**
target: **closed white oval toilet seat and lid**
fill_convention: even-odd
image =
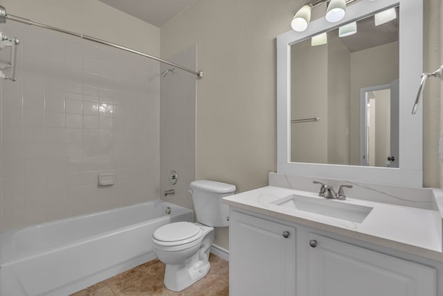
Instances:
[[[203,229],[194,223],[176,222],[156,229],[153,235],[155,243],[164,247],[185,245],[201,238]]]

